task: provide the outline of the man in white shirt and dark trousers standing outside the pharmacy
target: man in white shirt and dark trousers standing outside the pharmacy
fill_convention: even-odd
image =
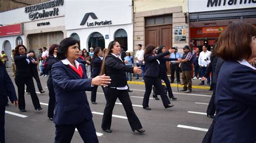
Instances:
[[[206,72],[206,69],[207,69],[207,66],[211,62],[210,61],[210,56],[211,56],[211,52],[207,51],[206,46],[203,46],[203,51],[199,54],[199,58],[198,58],[198,65],[200,67],[199,77],[204,76],[204,74]],[[209,77],[207,77],[207,85],[208,86],[211,85],[210,82],[211,82],[211,78],[209,76]],[[201,83],[199,85],[204,85],[204,84],[205,84],[205,81],[201,81]]]

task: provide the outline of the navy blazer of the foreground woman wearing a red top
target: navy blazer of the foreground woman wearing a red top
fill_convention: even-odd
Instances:
[[[92,118],[85,91],[91,90],[91,79],[87,79],[85,66],[83,77],[62,61],[52,66],[51,74],[56,94],[53,122],[57,125],[78,124]]]

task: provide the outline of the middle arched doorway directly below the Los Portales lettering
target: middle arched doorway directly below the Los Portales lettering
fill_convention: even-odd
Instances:
[[[92,33],[88,41],[88,49],[90,47],[93,47],[93,49],[96,47],[100,47],[102,49],[105,48],[105,39],[103,35],[99,32]]]

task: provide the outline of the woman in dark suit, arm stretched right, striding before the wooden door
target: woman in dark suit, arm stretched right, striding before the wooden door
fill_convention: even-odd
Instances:
[[[156,55],[156,46],[149,44],[145,47],[144,61],[145,61],[145,74],[144,81],[146,91],[143,98],[143,109],[151,110],[149,107],[149,97],[152,91],[152,85],[160,91],[160,96],[163,101],[165,108],[171,108],[171,102],[164,92],[163,86],[160,80],[160,62],[159,60],[166,55],[172,53],[174,49],[169,49],[169,51]]]

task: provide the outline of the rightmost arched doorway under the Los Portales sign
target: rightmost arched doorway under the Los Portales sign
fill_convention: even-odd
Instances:
[[[124,29],[119,29],[114,33],[114,40],[119,42],[124,51],[127,51],[127,32]]]

